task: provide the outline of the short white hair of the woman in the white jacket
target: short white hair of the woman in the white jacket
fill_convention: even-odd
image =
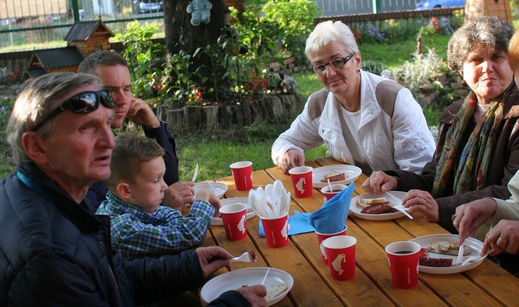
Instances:
[[[310,33],[304,53],[311,61],[320,48],[327,46],[330,41],[338,41],[344,44],[350,53],[356,53],[358,46],[352,30],[341,21],[322,21]]]

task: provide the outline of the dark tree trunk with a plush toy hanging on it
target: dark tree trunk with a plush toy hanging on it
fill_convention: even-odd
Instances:
[[[199,26],[193,26],[191,24],[191,14],[186,12],[189,1],[183,0],[164,0],[164,24],[165,24],[165,42],[167,46],[168,55],[174,55],[179,53],[180,50],[184,50],[190,55],[200,47],[206,46],[217,46],[218,37],[223,34],[222,29],[224,28],[224,15],[228,12],[226,3],[222,0],[210,0],[212,8],[210,10],[210,21],[208,24],[203,22]],[[224,75],[224,67],[219,65],[213,65],[210,62],[208,55],[201,55],[196,59],[192,59],[194,65],[190,67],[190,71],[194,72],[197,68],[201,69],[201,77],[210,77],[213,73],[212,69],[215,70],[216,76]],[[194,77],[194,81],[202,85],[201,79]],[[220,78],[221,79],[221,78]],[[221,80],[217,85],[221,84]],[[215,87],[213,82],[204,82],[210,84],[210,88]],[[217,87],[215,91],[217,91]],[[206,90],[208,90],[206,88]],[[205,97],[204,97],[205,98]]]

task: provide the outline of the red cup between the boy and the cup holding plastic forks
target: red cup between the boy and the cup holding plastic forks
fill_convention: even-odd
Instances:
[[[247,236],[246,205],[235,203],[220,207],[219,211],[227,239],[230,241],[245,239]]]

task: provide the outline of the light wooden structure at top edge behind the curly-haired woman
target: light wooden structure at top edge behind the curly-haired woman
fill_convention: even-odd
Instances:
[[[466,0],[465,21],[484,16],[495,16],[512,24],[509,0]]]

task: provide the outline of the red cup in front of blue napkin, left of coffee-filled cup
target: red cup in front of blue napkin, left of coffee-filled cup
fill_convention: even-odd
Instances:
[[[348,280],[355,277],[355,246],[353,236],[332,236],[322,244],[328,255],[328,267],[334,280]]]

